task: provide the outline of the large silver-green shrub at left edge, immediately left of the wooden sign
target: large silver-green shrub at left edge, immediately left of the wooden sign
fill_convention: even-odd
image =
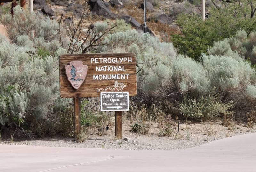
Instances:
[[[0,121],[20,125],[43,118],[58,95],[57,59],[30,60],[27,48],[1,42]]]

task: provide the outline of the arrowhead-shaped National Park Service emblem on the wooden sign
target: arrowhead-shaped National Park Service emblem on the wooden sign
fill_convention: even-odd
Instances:
[[[88,66],[83,65],[82,61],[71,61],[65,65],[68,81],[74,89],[79,89],[86,78]]]

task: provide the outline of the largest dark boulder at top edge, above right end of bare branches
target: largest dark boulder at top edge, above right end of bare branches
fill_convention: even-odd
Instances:
[[[107,2],[103,2],[103,1],[98,0],[94,4],[94,6],[92,8],[92,12],[95,12],[99,16],[104,16],[106,18],[113,18],[113,19],[115,19],[117,17],[117,15],[110,11],[108,5],[109,4]]]

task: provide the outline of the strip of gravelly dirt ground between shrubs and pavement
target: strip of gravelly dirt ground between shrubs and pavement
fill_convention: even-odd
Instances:
[[[0,144],[12,145],[32,145],[32,146],[49,146],[49,147],[94,147],[109,149],[127,149],[127,150],[173,150],[187,149],[196,147],[207,142],[223,139],[240,134],[255,133],[256,127],[248,128],[243,124],[236,124],[232,128],[221,125],[221,121],[203,122],[188,124],[181,123],[180,131],[172,133],[170,137],[158,136],[156,124],[150,128],[148,135],[132,133],[130,121],[123,121],[123,139],[131,138],[131,141],[116,140],[115,127],[110,126],[109,130],[104,133],[98,133],[97,129],[88,132],[88,138],[77,143],[74,138],[52,137],[35,140],[14,140],[3,139]],[[177,129],[177,128],[175,128]]]

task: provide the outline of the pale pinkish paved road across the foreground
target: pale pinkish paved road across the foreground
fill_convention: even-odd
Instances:
[[[0,145],[1,172],[255,172],[256,133],[172,151]]]

